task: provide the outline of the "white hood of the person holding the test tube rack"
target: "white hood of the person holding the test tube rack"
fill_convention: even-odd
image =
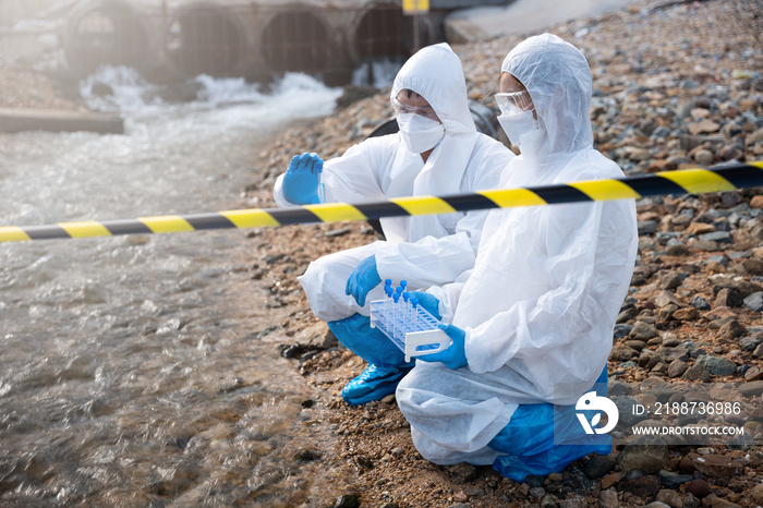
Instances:
[[[591,69],[574,46],[552,34],[530,37],[509,52],[500,70],[519,80],[535,105],[544,135],[534,155],[593,146]]]

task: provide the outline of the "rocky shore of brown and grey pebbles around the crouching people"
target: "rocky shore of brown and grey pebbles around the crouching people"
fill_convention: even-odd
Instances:
[[[645,2],[549,32],[589,59],[596,145],[634,176],[763,157],[761,13],[754,0]],[[500,62],[522,38],[453,48],[472,98],[492,105]],[[390,116],[387,93],[287,132],[262,154],[263,179],[247,194],[274,206],[269,191],[291,156],[311,150],[330,158],[362,141]],[[393,396],[361,408],[341,400],[364,362],[312,316],[295,276],[320,255],[376,240],[371,227],[253,231],[252,279],[269,290],[268,305],[291,310],[272,337],[315,389],[304,410],[315,445],[301,457],[316,484],[304,506],[763,505],[763,190],[644,198],[638,213],[640,255],[615,329],[610,395],[680,403],[694,400],[692,387],[732,385],[731,400],[746,416],[726,422],[746,434],[704,445],[616,439],[609,457],[591,456],[522,484],[489,467],[423,460]]]

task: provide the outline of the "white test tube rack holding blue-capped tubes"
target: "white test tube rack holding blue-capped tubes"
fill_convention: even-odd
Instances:
[[[443,351],[452,342],[437,328],[439,322],[421,305],[393,302],[390,299],[371,302],[371,327],[378,328],[405,354],[412,356]]]

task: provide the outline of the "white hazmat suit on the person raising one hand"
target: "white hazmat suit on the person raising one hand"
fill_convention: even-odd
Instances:
[[[445,137],[424,164],[400,133],[368,138],[324,165],[326,201],[364,203],[411,195],[446,195],[492,189],[513,154],[477,132],[469,110],[461,61],[447,44],[426,47],[402,66],[391,90],[410,89],[424,97],[445,126]],[[283,197],[279,177],[274,195]],[[456,280],[474,266],[487,213],[383,218],[387,241],[350,249],[311,263],[299,281],[313,313],[326,322],[355,313],[368,315],[368,302],[383,298],[383,285],[368,293],[364,307],[344,293],[348,277],[366,257],[376,256],[382,279],[408,280],[427,288]]]

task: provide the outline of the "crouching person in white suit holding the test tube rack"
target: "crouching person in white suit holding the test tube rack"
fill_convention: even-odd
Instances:
[[[500,188],[623,177],[593,148],[591,71],[574,46],[550,34],[525,39],[499,84],[498,120],[521,152]],[[398,386],[414,445],[432,462],[493,463],[517,481],[608,453],[611,438],[589,436],[574,404],[606,395],[637,254],[633,201],[496,209],[482,238],[470,274],[417,293],[453,342],[419,356]]]

